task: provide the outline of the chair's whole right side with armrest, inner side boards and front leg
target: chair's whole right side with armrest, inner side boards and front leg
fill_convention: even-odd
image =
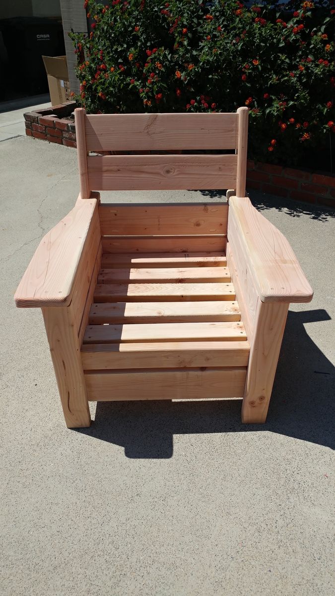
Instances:
[[[250,342],[242,421],[263,423],[289,305],[313,291],[289,242],[247,197],[229,197],[227,263]]]

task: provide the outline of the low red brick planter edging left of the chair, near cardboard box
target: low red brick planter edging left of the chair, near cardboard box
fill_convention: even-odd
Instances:
[[[73,120],[66,119],[76,107],[75,101],[54,105],[51,109],[24,114],[26,135],[66,147],[76,147],[76,128]]]

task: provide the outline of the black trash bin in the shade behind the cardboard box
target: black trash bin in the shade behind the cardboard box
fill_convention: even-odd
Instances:
[[[18,97],[47,93],[48,80],[42,55],[65,54],[61,20],[39,17],[6,18],[0,21],[0,30],[7,51],[6,95]]]

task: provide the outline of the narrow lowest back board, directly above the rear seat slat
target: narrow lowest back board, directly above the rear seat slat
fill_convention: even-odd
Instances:
[[[104,253],[193,253],[225,250],[225,235],[103,236]]]

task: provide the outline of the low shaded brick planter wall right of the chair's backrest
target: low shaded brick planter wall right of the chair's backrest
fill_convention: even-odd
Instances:
[[[268,163],[247,163],[247,189],[335,207],[335,175],[296,170]]]

